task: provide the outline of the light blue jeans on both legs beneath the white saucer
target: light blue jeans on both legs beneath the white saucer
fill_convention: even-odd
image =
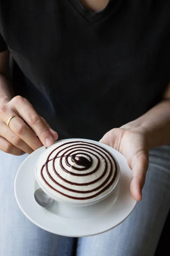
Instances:
[[[14,178],[26,156],[0,151],[0,256],[71,256],[74,238],[32,224],[14,197]],[[170,146],[150,151],[143,199],[118,227],[78,239],[74,256],[153,256],[170,209]]]

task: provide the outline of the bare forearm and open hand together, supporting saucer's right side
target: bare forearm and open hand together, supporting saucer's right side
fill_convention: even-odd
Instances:
[[[142,199],[142,188],[148,169],[150,148],[170,144],[170,85],[165,99],[120,128],[108,131],[100,142],[122,153],[132,169],[130,191],[136,201]]]

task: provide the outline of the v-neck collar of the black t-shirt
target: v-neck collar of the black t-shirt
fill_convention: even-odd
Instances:
[[[75,9],[91,23],[95,23],[102,18],[106,17],[113,10],[116,11],[122,0],[109,0],[107,6],[99,12],[93,12],[90,9],[85,8],[80,0],[69,0]]]

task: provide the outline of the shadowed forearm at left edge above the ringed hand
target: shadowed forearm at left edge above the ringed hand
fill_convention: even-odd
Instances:
[[[0,74],[0,105],[6,104],[13,98],[13,91],[8,79]]]

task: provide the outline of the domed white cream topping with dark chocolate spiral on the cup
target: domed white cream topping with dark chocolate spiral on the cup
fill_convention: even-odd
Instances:
[[[106,148],[83,140],[64,140],[47,148],[36,178],[59,201],[91,201],[110,191],[117,179],[116,161]]]

